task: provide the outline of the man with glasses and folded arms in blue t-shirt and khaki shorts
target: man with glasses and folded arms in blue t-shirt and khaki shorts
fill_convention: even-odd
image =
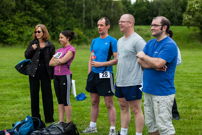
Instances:
[[[147,42],[136,56],[144,68],[143,92],[145,125],[150,135],[173,135],[172,106],[175,97],[174,76],[177,65],[177,45],[167,32],[170,21],[155,17],[151,32],[156,39]]]

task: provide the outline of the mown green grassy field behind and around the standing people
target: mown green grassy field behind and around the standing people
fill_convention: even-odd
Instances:
[[[178,44],[182,55],[182,64],[176,69],[175,86],[176,100],[180,120],[173,120],[176,135],[202,135],[202,45],[201,38],[194,28],[173,26],[173,39]],[[146,41],[153,38],[149,26],[135,26],[135,31],[144,37]],[[120,38],[122,33],[119,28],[110,31],[110,35]],[[54,42],[56,48],[61,47],[58,42]],[[76,92],[85,93],[87,98],[84,101],[77,101],[71,94],[72,121],[78,130],[84,130],[90,122],[90,95],[85,91],[87,68],[89,59],[89,45],[75,46],[76,57],[71,65],[73,79],[76,80]],[[8,47],[0,48],[0,130],[12,128],[12,123],[22,120],[26,115],[31,115],[30,92],[28,76],[22,75],[15,70],[15,65],[24,59],[26,48]],[[114,66],[116,73],[116,66]],[[57,100],[53,88],[54,96],[54,118],[58,122]],[[41,96],[41,95],[40,95]],[[144,101],[144,99],[143,99]],[[120,108],[118,100],[114,97],[117,111],[116,129],[120,130]],[[143,106],[142,106],[143,108]],[[43,116],[42,102],[40,110]],[[135,135],[134,116],[131,115],[129,125],[129,135]],[[104,99],[101,98],[100,114],[97,121],[98,133],[95,135],[107,135],[109,131],[109,121]],[[144,127],[143,134],[148,134]],[[94,134],[92,134],[94,135]]]

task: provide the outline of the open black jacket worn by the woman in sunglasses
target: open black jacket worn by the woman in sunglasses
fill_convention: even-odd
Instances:
[[[46,43],[46,46],[44,48],[45,64],[46,64],[46,68],[50,76],[50,79],[53,79],[54,67],[49,66],[49,61],[55,54],[55,46],[50,41],[46,41],[45,43]],[[33,49],[32,47],[33,44],[37,45],[37,49],[35,50]],[[39,56],[40,56],[39,42],[37,40],[32,40],[25,51],[25,58],[32,60],[31,64],[28,65],[27,67],[27,72],[31,77],[35,77],[38,64],[39,64]]]

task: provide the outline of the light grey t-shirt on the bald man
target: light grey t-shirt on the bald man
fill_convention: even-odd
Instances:
[[[127,39],[122,37],[118,40],[116,73],[118,87],[135,86],[142,83],[143,70],[136,54],[143,50],[145,44],[145,40],[137,33],[133,33]]]

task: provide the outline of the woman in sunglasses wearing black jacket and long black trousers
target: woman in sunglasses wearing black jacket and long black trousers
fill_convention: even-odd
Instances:
[[[49,41],[49,33],[45,25],[38,24],[33,33],[33,40],[25,51],[26,59],[31,59],[27,67],[30,83],[32,117],[41,119],[39,114],[39,88],[41,85],[45,122],[54,122],[53,119],[53,95],[51,79],[53,67],[49,61],[55,54],[55,46]]]

